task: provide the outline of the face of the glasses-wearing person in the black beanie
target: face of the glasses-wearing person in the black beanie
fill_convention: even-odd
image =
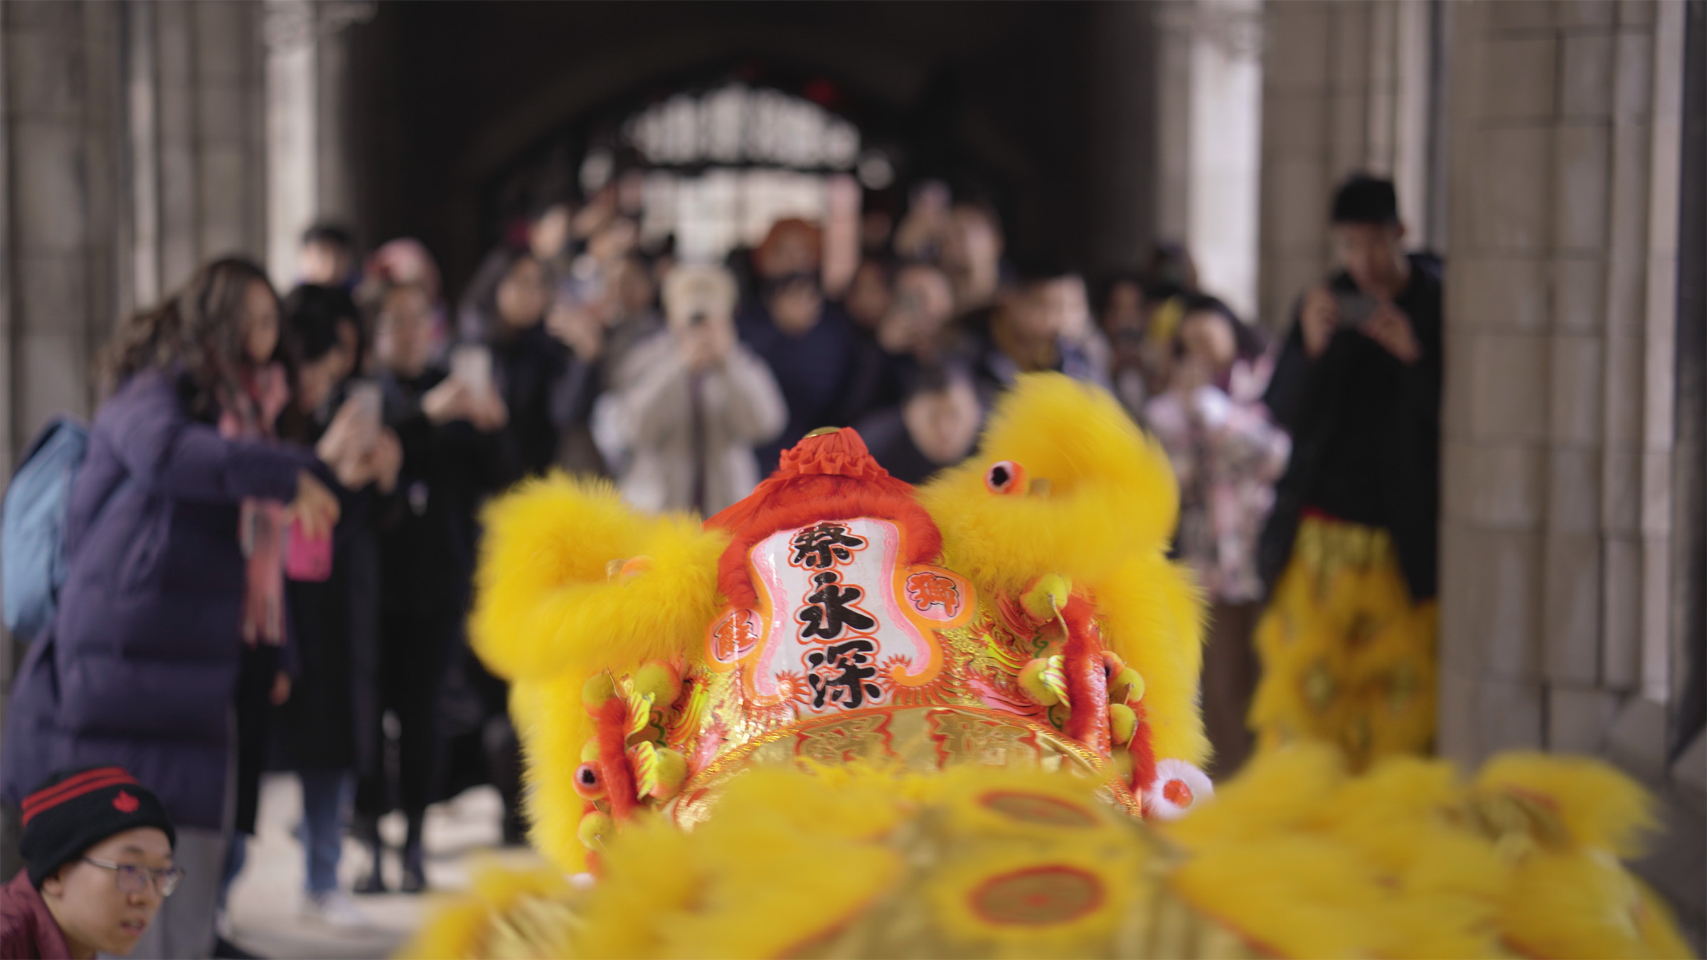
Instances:
[[[154,827],[113,834],[41,883],[41,899],[65,934],[72,957],[130,953],[160,912],[160,890],[149,875],[143,875],[149,881],[142,890],[119,890],[118,871],[84,859],[171,869],[172,844]]]

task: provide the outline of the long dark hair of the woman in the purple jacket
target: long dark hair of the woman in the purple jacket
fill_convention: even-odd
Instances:
[[[249,260],[227,256],[201,265],[160,306],[123,319],[102,360],[106,393],[142,371],[178,371],[191,417],[217,417],[220,393],[237,396],[239,372],[249,366],[242,301],[251,284],[263,284],[278,302],[265,270]]]

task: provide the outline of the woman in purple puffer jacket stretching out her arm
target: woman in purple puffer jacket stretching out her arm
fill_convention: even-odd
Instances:
[[[232,820],[239,651],[282,632],[280,526],[324,536],[336,483],[258,422],[278,297],[259,266],[208,263],[121,323],[113,393],[72,487],[58,615],[24,659],[0,746],[14,810],[53,770],[119,765],[178,825],[184,881],[140,957],[207,957]],[[277,593],[275,593],[277,589]]]

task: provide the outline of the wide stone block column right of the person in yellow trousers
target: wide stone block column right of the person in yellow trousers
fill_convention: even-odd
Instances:
[[[1466,760],[1663,767],[1681,14],[1456,10],[1441,748]]]

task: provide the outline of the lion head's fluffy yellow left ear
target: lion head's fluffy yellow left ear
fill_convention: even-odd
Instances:
[[[727,535],[645,516],[604,480],[553,475],[485,511],[469,641],[507,680],[693,659]]]

